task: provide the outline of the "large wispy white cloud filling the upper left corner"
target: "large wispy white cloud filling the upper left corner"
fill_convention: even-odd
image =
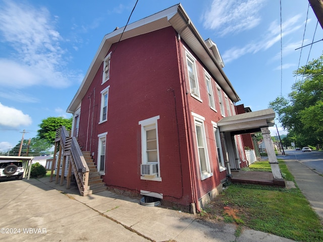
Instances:
[[[2,42],[11,57],[0,59],[0,85],[24,88],[34,85],[67,87],[73,74],[66,71],[62,37],[45,8],[5,1],[0,7]]]

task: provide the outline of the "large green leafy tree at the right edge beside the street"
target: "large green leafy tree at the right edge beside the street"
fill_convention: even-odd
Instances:
[[[270,102],[283,128],[292,132],[295,145],[323,143],[323,55],[294,72],[302,77],[288,97]]]

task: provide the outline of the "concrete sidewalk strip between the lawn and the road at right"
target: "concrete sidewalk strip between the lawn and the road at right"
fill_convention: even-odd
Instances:
[[[297,160],[284,161],[294,176],[298,188],[323,223],[323,176]]]

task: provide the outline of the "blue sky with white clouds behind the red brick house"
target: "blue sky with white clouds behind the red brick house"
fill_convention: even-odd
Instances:
[[[14,147],[23,130],[25,139],[35,137],[44,118],[71,116],[66,109],[103,36],[126,25],[135,3],[0,0],[0,150]],[[129,23],[178,3],[139,0]],[[181,4],[201,36],[217,43],[223,70],[241,98],[237,105],[253,111],[287,96],[296,81],[293,71],[322,54],[323,41],[311,51],[310,46],[295,50],[323,34],[318,24],[314,36],[317,19],[306,0],[282,0],[283,65],[279,0]]]

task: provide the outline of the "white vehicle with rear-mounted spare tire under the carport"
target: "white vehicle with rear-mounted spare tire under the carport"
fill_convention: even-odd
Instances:
[[[22,180],[24,168],[22,161],[1,160],[0,161],[0,179],[15,177]]]

